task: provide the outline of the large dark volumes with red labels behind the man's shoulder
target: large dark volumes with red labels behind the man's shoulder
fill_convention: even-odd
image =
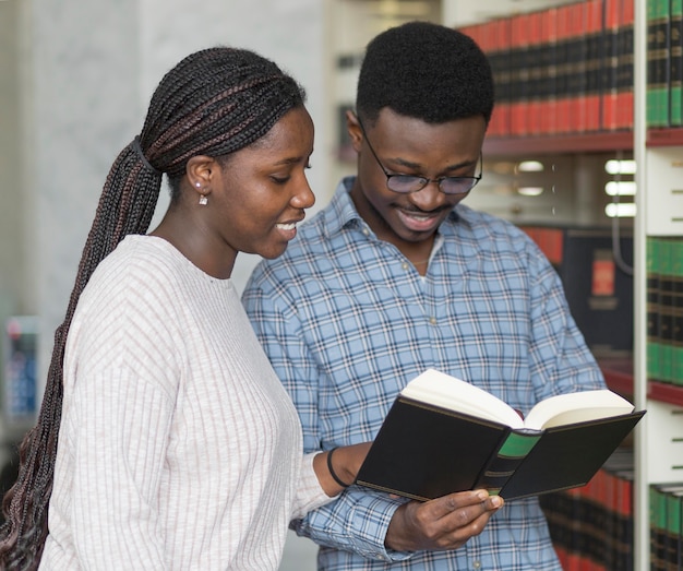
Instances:
[[[555,266],[572,316],[598,358],[633,352],[633,277],[618,264],[610,227],[523,225]],[[633,235],[621,230],[618,254],[633,264]]]

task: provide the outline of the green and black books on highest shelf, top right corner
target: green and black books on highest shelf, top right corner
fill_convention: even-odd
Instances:
[[[647,0],[646,122],[683,124],[683,0]]]

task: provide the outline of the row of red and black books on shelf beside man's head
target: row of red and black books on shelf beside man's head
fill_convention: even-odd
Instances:
[[[459,29],[490,58],[491,136],[633,128],[634,0],[583,0]]]

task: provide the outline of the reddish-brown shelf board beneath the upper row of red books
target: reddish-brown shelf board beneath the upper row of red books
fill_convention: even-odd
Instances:
[[[632,131],[547,136],[493,138],[483,143],[483,154],[490,156],[550,155],[558,153],[596,153],[631,151]]]

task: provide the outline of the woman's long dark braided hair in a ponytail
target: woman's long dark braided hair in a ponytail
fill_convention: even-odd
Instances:
[[[64,321],[55,333],[38,420],[21,443],[19,477],[2,502],[1,569],[34,570],[40,562],[61,420],[64,345],[79,298],[95,267],[127,235],[147,231],[164,174],[175,201],[189,158],[224,159],[261,139],[303,102],[304,92],[292,78],[244,49],[197,51],[163,78],[140,136],[111,166]]]

